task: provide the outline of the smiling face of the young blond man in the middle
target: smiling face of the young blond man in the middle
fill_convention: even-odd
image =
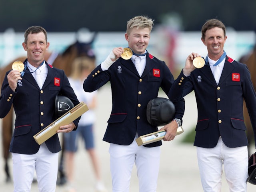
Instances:
[[[129,34],[125,34],[125,39],[128,41],[128,46],[136,54],[143,54],[148,47],[150,29],[134,27],[130,30]]]

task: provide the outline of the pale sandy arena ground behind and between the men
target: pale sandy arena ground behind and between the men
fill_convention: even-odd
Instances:
[[[159,96],[166,97],[164,94]],[[176,136],[172,142],[163,142],[161,146],[161,166],[158,176],[158,192],[202,192],[200,175],[196,158],[196,147],[193,144],[181,143],[186,132],[194,128],[197,119],[196,100],[194,93],[185,97],[186,110],[183,118],[184,133]],[[99,157],[102,179],[108,190],[112,191],[111,175],[109,168],[109,144],[102,141],[106,130],[107,120],[111,112],[111,90],[109,85],[105,85],[98,90],[98,107],[96,116],[98,120],[95,124],[96,150]],[[0,133],[2,129],[0,129]],[[2,154],[2,138],[0,138],[0,152]],[[252,149],[255,150],[255,149]],[[80,142],[79,150],[76,154],[75,180],[77,192],[94,192],[94,173],[88,154]],[[9,160],[10,173],[12,174],[12,160]],[[254,192],[256,186],[248,184],[248,192]],[[12,182],[5,183],[4,159],[0,158],[0,191],[12,192]],[[56,192],[65,192],[66,186],[57,186]],[[130,184],[131,192],[138,192],[138,179],[136,176],[136,167],[132,171]],[[222,192],[228,192],[228,185],[222,177]],[[37,184],[32,184],[31,192],[38,192]]]

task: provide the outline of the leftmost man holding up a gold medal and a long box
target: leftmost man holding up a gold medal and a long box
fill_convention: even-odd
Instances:
[[[33,136],[56,120],[55,98],[58,94],[79,104],[63,70],[53,68],[44,60],[50,43],[46,30],[31,26],[22,43],[27,59],[16,61],[6,73],[0,96],[0,118],[13,105],[16,114],[10,143],[13,160],[14,191],[30,191],[34,171],[40,192],[55,192],[58,173],[58,152],[61,150],[58,134],[37,144]],[[71,132],[80,118],[60,126],[57,132]]]

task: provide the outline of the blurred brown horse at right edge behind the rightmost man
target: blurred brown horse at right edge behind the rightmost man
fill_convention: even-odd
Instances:
[[[256,90],[256,45],[254,48],[246,55],[242,56],[239,60],[239,62],[244,63],[247,65],[252,79],[252,84],[254,87],[254,90]],[[244,102],[244,123],[246,125],[247,131],[246,135],[248,138],[248,155],[251,156],[252,152],[250,152],[250,146],[254,144],[254,133],[252,130],[252,124],[250,121],[250,116],[248,114],[248,110],[246,107],[246,104]]]

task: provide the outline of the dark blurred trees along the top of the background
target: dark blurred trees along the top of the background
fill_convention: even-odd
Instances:
[[[125,31],[126,22],[148,15],[159,24],[165,14],[175,12],[182,30],[200,30],[210,18],[218,18],[235,30],[255,30],[256,0],[0,0],[0,32],[7,28],[24,32],[40,25],[48,32]]]

